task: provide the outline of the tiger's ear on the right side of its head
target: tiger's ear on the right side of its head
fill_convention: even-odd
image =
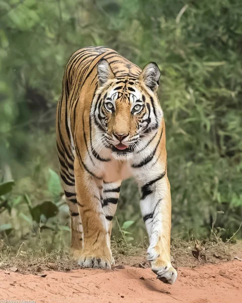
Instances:
[[[155,62],[146,64],[140,74],[140,80],[145,83],[153,92],[156,92],[159,85],[160,70]]]

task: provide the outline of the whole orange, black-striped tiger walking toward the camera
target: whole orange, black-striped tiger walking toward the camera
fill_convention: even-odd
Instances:
[[[72,259],[84,268],[111,268],[120,185],[134,177],[149,237],[147,259],[158,279],[173,284],[177,272],[170,261],[171,196],[159,78],[154,62],[141,70],[111,48],[79,49],[64,72],[56,145],[71,217]]]

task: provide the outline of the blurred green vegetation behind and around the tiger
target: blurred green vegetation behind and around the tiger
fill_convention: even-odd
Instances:
[[[242,218],[241,20],[241,0],[0,0],[0,237],[69,238],[55,108],[71,54],[105,45],[161,69],[172,236],[230,238]],[[122,187],[113,235],[144,241],[137,187]]]

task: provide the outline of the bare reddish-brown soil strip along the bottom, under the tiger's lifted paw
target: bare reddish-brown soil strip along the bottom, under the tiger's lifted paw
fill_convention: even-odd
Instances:
[[[166,285],[150,269],[47,271],[46,277],[0,271],[0,302],[242,302],[242,262],[178,268],[178,280]],[[4,301],[3,301],[4,302]]]

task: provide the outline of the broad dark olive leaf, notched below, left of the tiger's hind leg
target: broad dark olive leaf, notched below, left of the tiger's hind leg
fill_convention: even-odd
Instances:
[[[39,204],[31,209],[30,211],[32,218],[35,222],[39,223],[41,215],[44,215],[46,219],[52,218],[57,215],[58,208],[51,201],[44,201],[42,204]]]

